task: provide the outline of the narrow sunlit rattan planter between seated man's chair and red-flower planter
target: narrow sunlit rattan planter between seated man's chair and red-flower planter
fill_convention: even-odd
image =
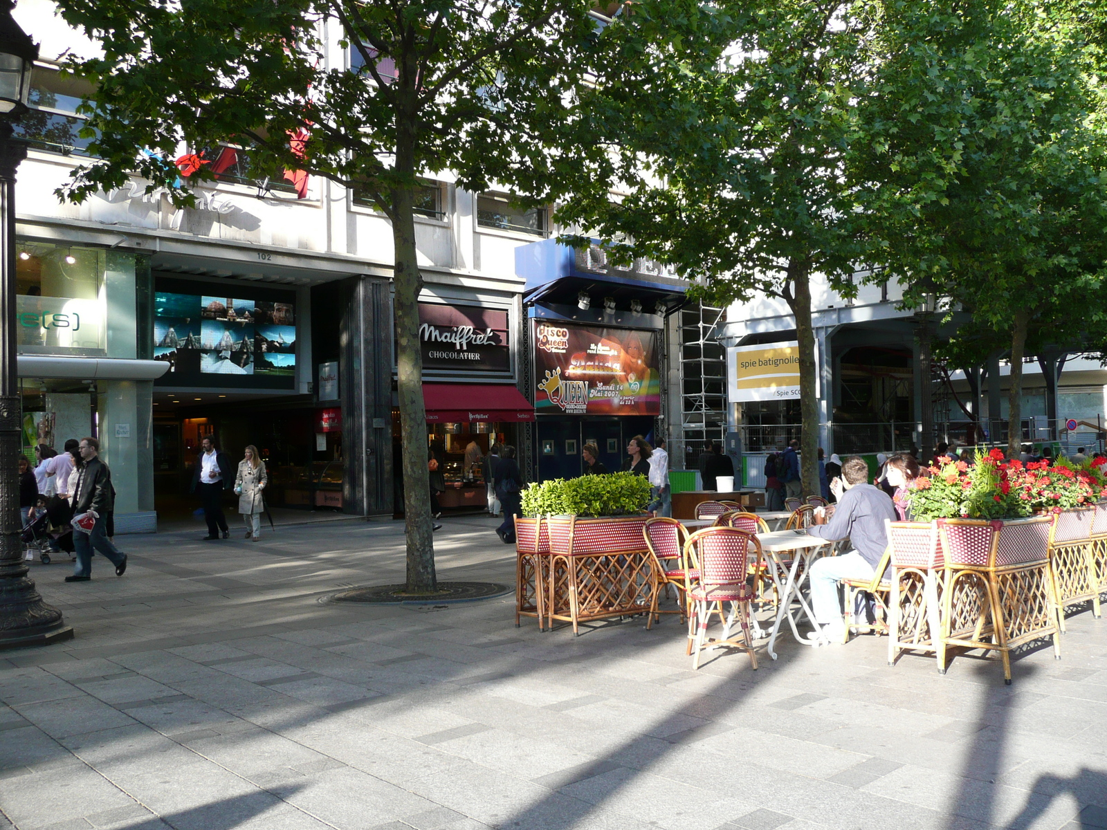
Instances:
[[[937,653],[945,554],[932,521],[886,521],[891,551],[888,665],[900,652]]]

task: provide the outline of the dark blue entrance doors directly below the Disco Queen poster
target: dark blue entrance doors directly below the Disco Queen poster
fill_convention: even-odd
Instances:
[[[599,461],[608,473],[617,473],[622,469],[631,438],[653,437],[653,418],[648,415],[539,416],[537,422],[539,481],[581,475],[584,444],[594,444]]]

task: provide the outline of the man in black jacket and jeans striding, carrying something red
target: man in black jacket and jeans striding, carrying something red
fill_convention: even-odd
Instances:
[[[77,445],[82,466],[73,489],[73,547],[76,564],[66,582],[87,582],[92,579],[92,552],[99,551],[115,566],[115,575],[127,569],[127,557],[113,544],[105,533],[105,517],[115,509],[115,490],[112,471],[100,460],[100,442],[82,438]]]

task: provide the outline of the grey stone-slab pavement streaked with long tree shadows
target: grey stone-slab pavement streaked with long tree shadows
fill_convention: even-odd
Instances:
[[[514,581],[484,518],[435,535],[439,579]],[[712,652],[665,616],[539,633],[514,598],[346,606],[394,582],[403,528],[121,537],[62,582],[76,639],[0,653],[0,827],[1105,828],[1107,620],[1064,660],[886,665],[887,641],[779,660]]]

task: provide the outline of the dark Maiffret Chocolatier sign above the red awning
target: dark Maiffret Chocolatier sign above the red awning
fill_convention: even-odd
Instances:
[[[421,302],[418,319],[423,369],[510,370],[510,332],[506,311]]]

